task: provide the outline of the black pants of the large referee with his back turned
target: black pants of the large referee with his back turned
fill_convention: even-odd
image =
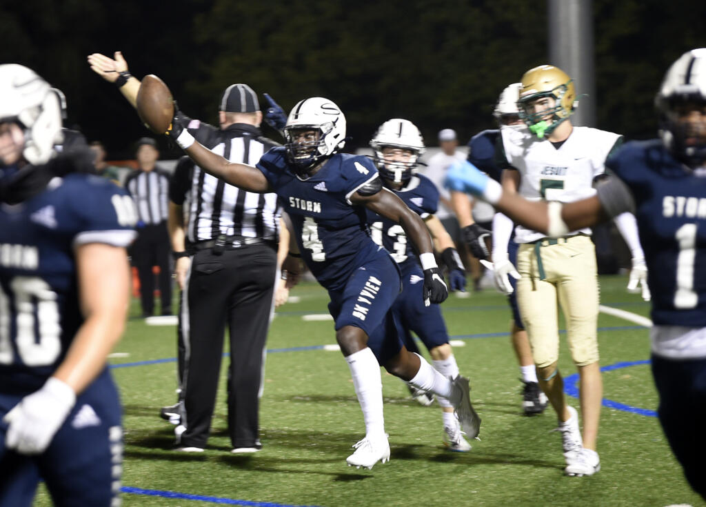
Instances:
[[[182,293],[184,372],[179,445],[203,448],[210,434],[228,323],[228,431],[234,448],[259,446],[258,408],[273,307],[276,245],[197,251]]]

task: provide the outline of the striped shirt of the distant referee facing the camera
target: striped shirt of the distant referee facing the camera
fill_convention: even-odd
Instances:
[[[125,188],[135,201],[140,222],[157,225],[167,221],[168,172],[158,166],[151,171],[138,169],[128,174]]]

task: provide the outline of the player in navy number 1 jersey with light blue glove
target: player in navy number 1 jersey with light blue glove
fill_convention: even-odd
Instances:
[[[470,164],[454,167],[448,184],[548,237],[635,213],[653,295],[659,422],[689,483],[706,499],[706,48],[669,67],[655,103],[659,139],[627,143],[611,155],[611,177],[594,196],[528,201]]]

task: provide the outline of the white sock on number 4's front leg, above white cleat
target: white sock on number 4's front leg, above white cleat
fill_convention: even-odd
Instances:
[[[370,347],[354,352],[345,359],[363,411],[366,436],[379,438],[385,434],[385,418],[383,417],[383,382],[378,360]]]

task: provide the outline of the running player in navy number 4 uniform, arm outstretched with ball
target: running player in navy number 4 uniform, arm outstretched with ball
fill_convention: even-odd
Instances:
[[[477,436],[480,419],[469,400],[467,378],[446,378],[402,345],[390,311],[400,292],[399,268],[371,239],[366,209],[399,223],[420,252],[424,275],[420,297],[426,304],[443,302],[448,288],[424,222],[383,189],[368,157],[339,153],[345,133],[345,117],[337,105],[312,97],[289,113],[287,144],[265,153],[256,167],[228,162],[203,148],[179,123],[178,112],[167,136],[206,172],[249,191],[274,191],[285,205],[296,242],[282,268],[296,272],[301,257],[328,290],[336,340],[349,365],[366,426],[366,436],[355,444],[347,463],[371,468],[390,458],[379,365],[414,388],[450,400],[470,438]]]

